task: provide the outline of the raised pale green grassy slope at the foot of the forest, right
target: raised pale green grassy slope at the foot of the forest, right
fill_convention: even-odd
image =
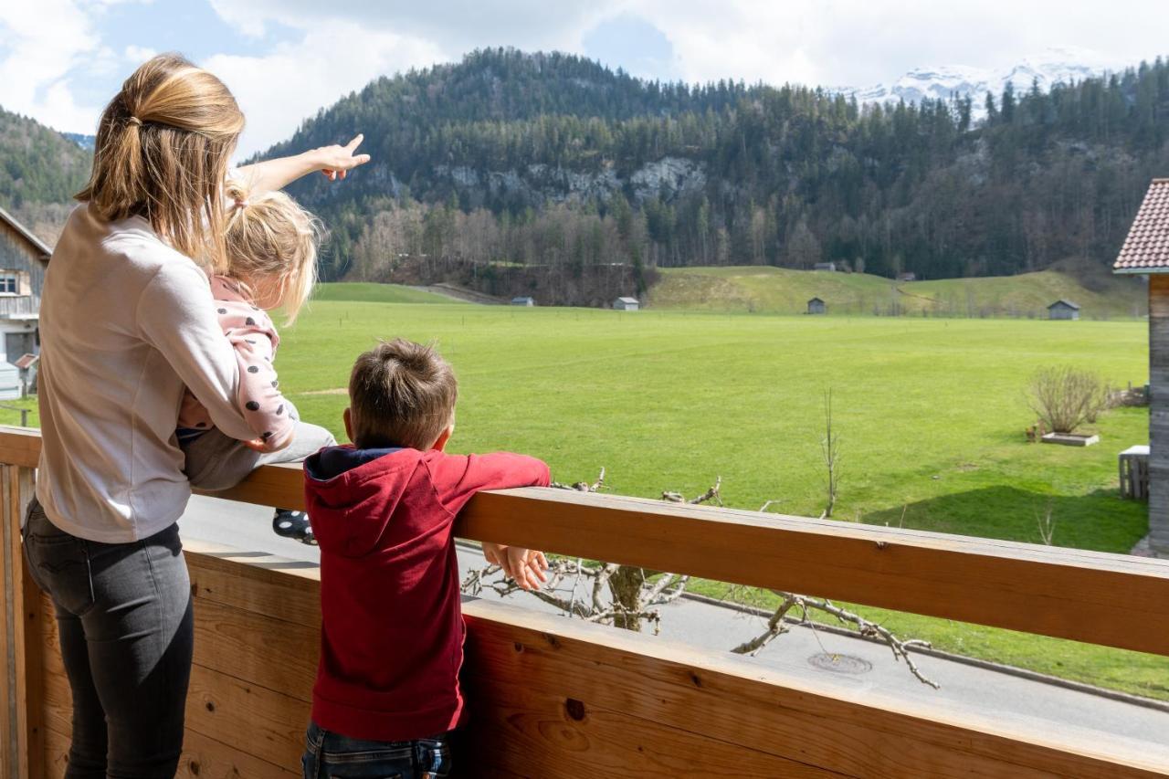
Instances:
[[[1085,319],[1141,316],[1143,282],[1100,277],[1088,289],[1074,276],[1043,270],[1018,276],[893,282],[865,274],[789,270],[765,266],[666,268],[649,294],[659,309],[706,309],[802,313],[811,297],[829,313],[987,317],[1045,316],[1049,303],[1067,298]]]

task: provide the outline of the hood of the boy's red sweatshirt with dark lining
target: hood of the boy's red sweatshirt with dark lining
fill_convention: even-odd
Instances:
[[[305,502],[321,551],[362,557],[376,549],[424,456],[417,449],[339,446],[305,460]]]

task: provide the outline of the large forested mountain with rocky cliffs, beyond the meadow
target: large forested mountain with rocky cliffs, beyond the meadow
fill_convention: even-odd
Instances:
[[[974,104],[662,84],[486,49],[379,78],[267,156],[366,133],[373,161],[344,186],[292,187],[332,228],[326,278],[393,280],[411,262],[411,278],[461,283],[539,267],[551,281],[524,283],[553,289],[614,263],[833,260],[925,278],[1106,267],[1148,180],[1169,173],[1169,66],[1010,87],[982,122]]]

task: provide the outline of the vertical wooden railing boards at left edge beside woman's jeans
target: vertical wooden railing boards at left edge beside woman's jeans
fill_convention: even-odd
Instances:
[[[5,673],[0,678],[0,775],[41,779],[44,775],[41,652],[41,598],[28,575],[20,525],[33,497],[32,468],[0,466],[0,587],[4,618],[0,646]]]

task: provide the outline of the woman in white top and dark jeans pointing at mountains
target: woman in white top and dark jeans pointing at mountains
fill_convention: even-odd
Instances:
[[[70,778],[170,779],[178,766],[193,642],[175,525],[191,495],[174,439],[184,387],[219,429],[254,437],[205,273],[224,264],[222,189],[242,129],[215,76],[177,55],[143,64],[102,115],[49,263],[25,551],[72,689]],[[313,170],[344,178],[368,160],[359,142],[238,174],[256,189]]]

